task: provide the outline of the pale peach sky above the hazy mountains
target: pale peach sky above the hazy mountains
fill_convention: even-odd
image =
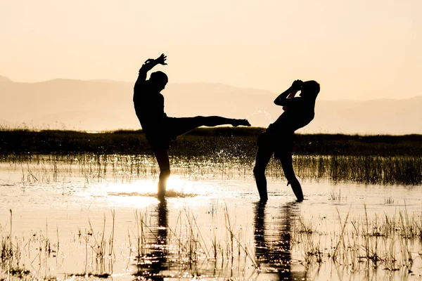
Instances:
[[[170,82],[321,98],[421,95],[421,0],[0,0],[0,75],[134,81],[165,53]],[[160,68],[158,68],[160,69]]]

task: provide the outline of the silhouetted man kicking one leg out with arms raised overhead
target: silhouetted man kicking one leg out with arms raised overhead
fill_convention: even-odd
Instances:
[[[136,116],[141,122],[143,132],[151,146],[160,166],[160,179],[158,181],[158,198],[165,197],[166,182],[170,176],[170,161],[167,150],[170,148],[170,141],[177,136],[199,126],[218,126],[229,124],[232,126],[250,126],[246,119],[229,119],[219,116],[210,117],[188,117],[172,118],[167,117],[164,112],[164,96],[160,91],[165,89],[168,82],[164,72],[153,72],[149,80],[146,74],[155,65],[167,65],[167,57],[162,54],[159,58],[148,59],[139,70],[139,77],[134,86],[134,107]]]

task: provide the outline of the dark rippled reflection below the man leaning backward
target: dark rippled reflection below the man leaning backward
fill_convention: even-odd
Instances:
[[[292,270],[290,252],[291,223],[298,214],[297,202],[284,204],[275,228],[265,223],[266,202],[255,203],[254,238],[255,255],[260,268],[278,275],[279,280],[295,280],[305,277],[305,273]],[[272,224],[272,223],[271,223]],[[271,277],[272,279],[273,277]]]

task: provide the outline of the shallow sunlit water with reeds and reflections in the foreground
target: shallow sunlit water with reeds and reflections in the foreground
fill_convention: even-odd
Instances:
[[[32,277],[108,273],[113,280],[362,280],[422,273],[420,238],[399,232],[422,221],[421,186],[304,178],[306,200],[296,203],[286,180],[274,177],[262,204],[250,167],[201,163],[173,169],[160,203],[154,162],[146,161],[141,173],[55,165],[0,164],[0,238],[7,246],[12,233],[15,252],[2,263],[0,278],[17,267]],[[394,226],[397,233],[385,235],[385,217],[402,222]],[[377,257],[375,264],[369,256]]]

